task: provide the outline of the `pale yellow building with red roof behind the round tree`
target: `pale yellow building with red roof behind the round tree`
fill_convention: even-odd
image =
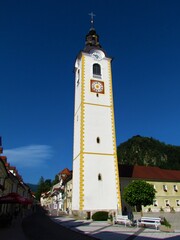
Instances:
[[[143,212],[180,212],[180,171],[150,166],[119,165],[121,195],[133,180],[145,180],[156,190],[152,205],[143,207]],[[122,198],[122,206],[131,209]],[[133,209],[134,210],[134,209]]]

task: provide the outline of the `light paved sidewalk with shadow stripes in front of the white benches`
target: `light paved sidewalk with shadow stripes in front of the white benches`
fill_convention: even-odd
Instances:
[[[71,230],[79,231],[101,240],[180,240],[180,230],[175,230],[171,233],[161,232],[153,228],[125,227],[124,225],[112,225],[107,222],[75,220],[68,217],[52,217],[51,219]]]

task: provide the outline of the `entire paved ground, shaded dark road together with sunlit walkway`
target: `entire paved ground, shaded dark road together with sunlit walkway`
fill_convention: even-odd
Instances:
[[[69,217],[50,217],[41,212],[37,211],[23,220],[22,218],[14,219],[10,227],[0,229],[0,240],[90,240],[93,238],[101,240],[180,240],[180,230],[177,228],[172,233],[161,232],[153,228],[125,227],[107,222],[75,220]]]

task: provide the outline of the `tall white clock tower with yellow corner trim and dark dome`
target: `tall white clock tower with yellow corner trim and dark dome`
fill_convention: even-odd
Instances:
[[[121,211],[111,58],[94,28],[75,62],[72,211]]]

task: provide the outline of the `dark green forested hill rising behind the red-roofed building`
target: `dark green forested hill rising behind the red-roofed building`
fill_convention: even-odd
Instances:
[[[153,138],[134,136],[117,147],[117,155],[120,164],[180,170],[180,146]]]

